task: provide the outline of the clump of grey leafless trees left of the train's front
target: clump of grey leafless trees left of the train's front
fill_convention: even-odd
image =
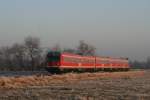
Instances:
[[[35,70],[43,62],[40,39],[25,38],[22,44],[0,48],[0,70]]]

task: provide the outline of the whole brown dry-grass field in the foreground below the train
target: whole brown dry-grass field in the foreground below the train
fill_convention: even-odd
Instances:
[[[150,100],[150,71],[0,77],[0,100]]]

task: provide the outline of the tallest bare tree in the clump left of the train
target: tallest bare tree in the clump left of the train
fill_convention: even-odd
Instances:
[[[37,37],[27,37],[25,38],[25,49],[26,49],[26,55],[29,57],[29,60],[31,62],[32,70],[34,70],[35,67],[37,67],[38,62],[41,57],[41,48],[40,48],[40,39]]]

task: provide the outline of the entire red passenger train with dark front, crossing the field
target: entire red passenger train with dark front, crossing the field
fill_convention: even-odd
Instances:
[[[47,54],[46,70],[50,73],[60,73],[68,71],[115,71],[129,70],[127,58],[112,58],[98,56],[81,56],[70,53],[49,52]]]

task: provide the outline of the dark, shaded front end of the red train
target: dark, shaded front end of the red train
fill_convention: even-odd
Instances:
[[[46,70],[50,73],[60,73],[61,53],[50,51],[46,56]]]

